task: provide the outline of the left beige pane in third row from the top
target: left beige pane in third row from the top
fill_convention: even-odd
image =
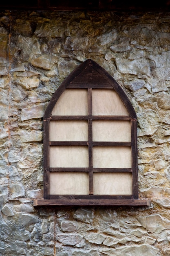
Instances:
[[[51,146],[50,167],[88,167],[88,147]]]

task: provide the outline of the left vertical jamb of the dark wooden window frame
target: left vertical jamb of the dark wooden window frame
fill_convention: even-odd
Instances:
[[[44,128],[44,199],[50,199],[50,163],[49,163],[49,120],[43,122]]]

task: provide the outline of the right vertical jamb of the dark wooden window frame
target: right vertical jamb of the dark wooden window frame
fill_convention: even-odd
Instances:
[[[131,119],[132,140],[132,193],[138,199],[138,166],[137,166],[137,119]]]

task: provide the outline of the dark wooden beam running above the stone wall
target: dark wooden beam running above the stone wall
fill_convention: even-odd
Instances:
[[[14,10],[52,10],[52,11],[170,11],[167,1],[159,1],[155,4],[144,1],[118,1],[118,0],[85,0],[83,2],[72,1],[4,1],[0,3],[0,9]]]

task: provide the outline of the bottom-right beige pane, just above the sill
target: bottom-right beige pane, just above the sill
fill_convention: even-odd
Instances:
[[[132,195],[131,173],[94,173],[95,195]]]

